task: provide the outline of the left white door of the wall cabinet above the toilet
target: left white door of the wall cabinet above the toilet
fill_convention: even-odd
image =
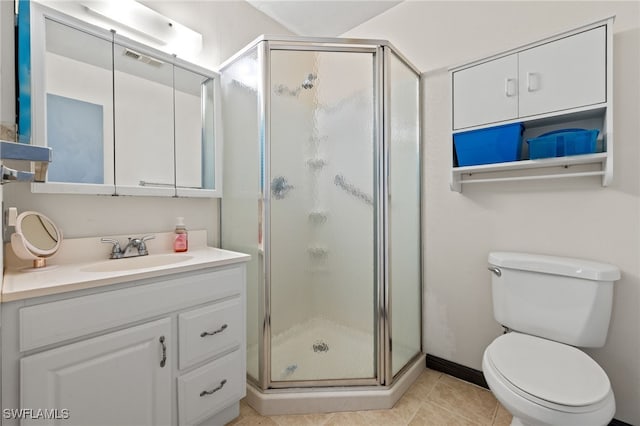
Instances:
[[[509,55],[453,73],[453,128],[518,116],[518,57]]]

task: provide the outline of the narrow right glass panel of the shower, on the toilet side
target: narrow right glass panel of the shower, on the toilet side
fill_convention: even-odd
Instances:
[[[415,355],[421,342],[420,117],[419,76],[394,53],[389,78],[389,286],[392,374]]]

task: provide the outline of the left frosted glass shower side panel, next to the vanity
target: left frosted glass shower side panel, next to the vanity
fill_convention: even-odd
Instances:
[[[225,129],[221,201],[222,246],[251,255],[247,263],[247,375],[260,379],[263,351],[260,337],[264,318],[264,254],[260,246],[261,134],[257,49],[225,68],[221,79]]]

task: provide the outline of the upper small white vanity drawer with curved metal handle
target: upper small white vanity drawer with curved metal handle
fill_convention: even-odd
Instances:
[[[178,316],[180,369],[242,343],[244,321],[240,297],[213,303]]]

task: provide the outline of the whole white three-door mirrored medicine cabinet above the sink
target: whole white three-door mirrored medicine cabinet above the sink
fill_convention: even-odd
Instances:
[[[215,72],[31,2],[33,192],[221,196]]]

